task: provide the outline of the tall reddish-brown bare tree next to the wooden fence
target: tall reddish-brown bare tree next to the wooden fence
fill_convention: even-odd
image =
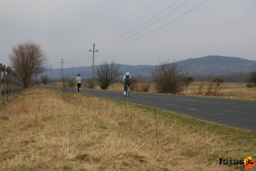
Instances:
[[[10,64],[27,88],[32,75],[44,72],[47,59],[41,46],[33,42],[20,43],[9,54]]]

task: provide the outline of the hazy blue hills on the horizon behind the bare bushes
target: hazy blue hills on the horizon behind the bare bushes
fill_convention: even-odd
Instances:
[[[183,67],[190,75],[246,73],[256,70],[256,61],[226,56],[205,56],[194,59],[190,58],[175,63],[178,66]],[[120,65],[120,69],[123,73],[128,71],[135,76],[150,76],[153,68],[157,67],[151,65]],[[98,66],[94,66],[94,68],[96,70]],[[65,76],[68,74],[69,78],[76,77],[78,73],[80,73],[83,78],[90,78],[92,76],[92,66],[64,68],[63,72]],[[46,69],[44,74],[50,76],[50,69]],[[94,74],[94,76],[96,76],[96,72]],[[52,79],[59,78],[60,69],[52,69]]]

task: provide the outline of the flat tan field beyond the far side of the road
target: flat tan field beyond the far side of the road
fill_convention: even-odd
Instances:
[[[199,87],[202,85],[202,89]],[[154,88],[154,83],[137,83],[137,87],[140,87],[142,84],[150,84],[149,91],[150,93],[156,93],[156,89]],[[62,86],[61,82],[54,82],[50,85],[54,86]],[[182,91],[182,95],[196,95],[196,96],[206,96],[207,91],[209,91],[209,82],[193,82],[188,86],[188,92],[186,93],[186,89]],[[217,97],[225,97],[225,98],[236,98],[236,99],[248,99],[248,100],[256,100],[256,88],[248,88],[246,87],[246,83],[232,83],[232,82],[224,82],[221,86],[216,86],[215,83],[211,83],[211,93],[207,96],[217,96]],[[134,86],[134,85],[133,85]],[[96,85],[95,89],[100,89],[98,85]],[[108,90],[113,91],[123,91],[124,87],[121,83],[116,83],[110,85]],[[214,92],[216,91],[216,94]]]

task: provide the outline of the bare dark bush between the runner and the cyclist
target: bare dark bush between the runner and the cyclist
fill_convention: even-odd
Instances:
[[[120,65],[115,64],[114,61],[107,63],[104,61],[101,66],[97,68],[96,74],[98,76],[97,81],[101,89],[107,89],[109,85],[118,81],[119,76],[122,74],[119,72]]]

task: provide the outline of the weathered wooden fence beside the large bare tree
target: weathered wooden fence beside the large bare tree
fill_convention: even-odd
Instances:
[[[17,93],[23,88],[23,83],[18,74],[11,67],[0,64],[0,92],[1,103],[10,101],[11,95]]]

